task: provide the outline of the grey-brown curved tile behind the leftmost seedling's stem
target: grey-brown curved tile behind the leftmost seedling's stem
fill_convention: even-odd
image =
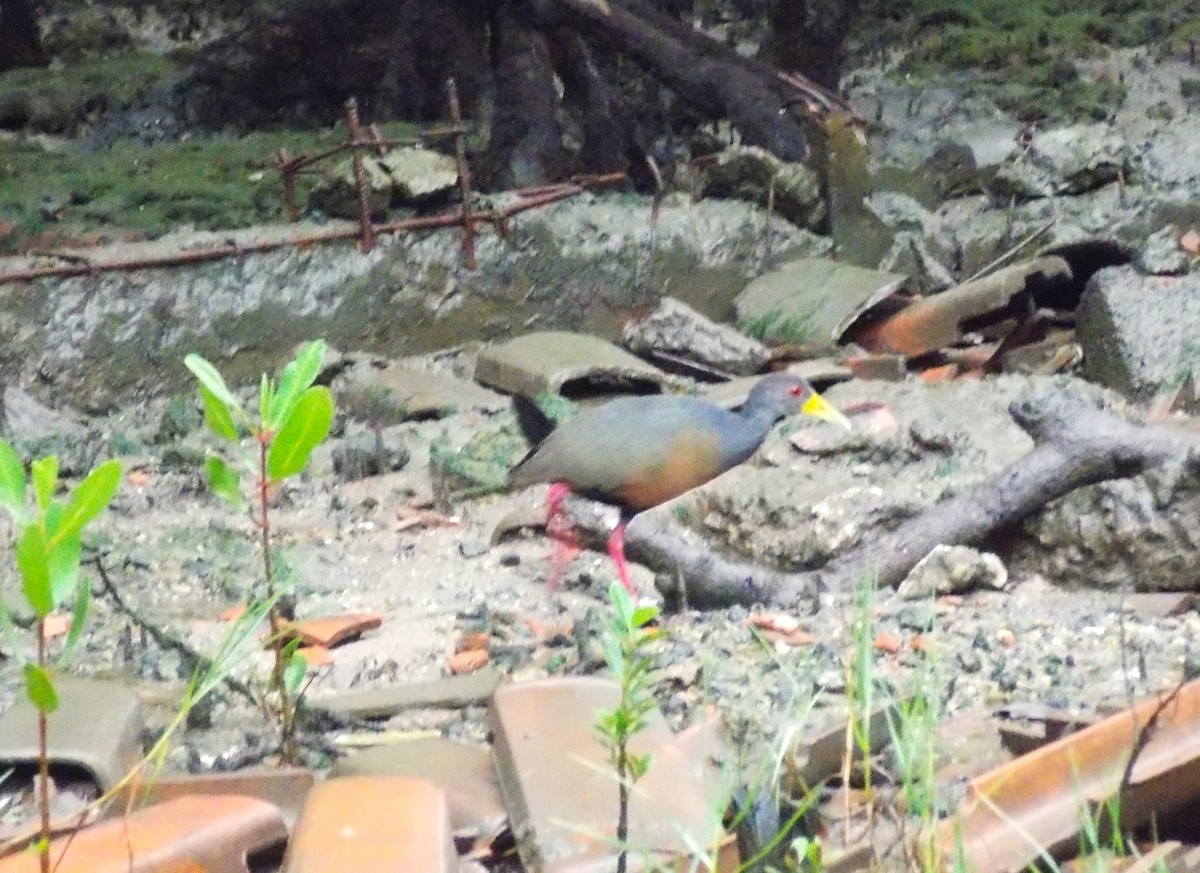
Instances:
[[[108,791],[142,759],[142,704],[118,682],[62,676],[49,715],[50,773],[82,772]],[[37,761],[37,711],[23,696],[0,716],[0,772]]]

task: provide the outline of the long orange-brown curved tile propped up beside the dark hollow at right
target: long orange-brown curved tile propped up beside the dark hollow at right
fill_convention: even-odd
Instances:
[[[1063,258],[1036,258],[922,297],[882,319],[866,313],[846,338],[870,351],[925,355],[961,342],[966,331],[1032,313],[1039,294],[1070,279]]]

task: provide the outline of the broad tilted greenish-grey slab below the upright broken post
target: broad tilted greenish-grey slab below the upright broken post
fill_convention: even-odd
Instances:
[[[830,349],[859,315],[906,283],[895,273],[802,258],[748,284],[734,301],[737,323],[766,343]]]

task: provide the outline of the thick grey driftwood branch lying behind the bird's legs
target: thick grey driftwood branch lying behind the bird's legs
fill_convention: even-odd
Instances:
[[[730,561],[661,513],[630,524],[626,552],[665,579],[660,584],[668,597],[690,607],[767,603],[797,609],[812,604],[822,590],[846,590],[864,577],[895,585],[935,546],[980,544],[1076,488],[1136,476],[1200,450],[1200,433],[1130,422],[1068,392],[1013,403],[1009,414],[1033,438],[1028,454],[821,570],[780,573]],[[581,530],[596,538],[607,535],[604,517],[582,502],[571,507]]]

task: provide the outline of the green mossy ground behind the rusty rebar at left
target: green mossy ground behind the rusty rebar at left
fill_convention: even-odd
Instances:
[[[410,136],[384,125],[383,136]],[[24,139],[0,140],[0,215],[25,230],[70,236],[104,228],[158,235],[180,224],[227,229],[281,221],[282,183],[271,163],[281,147],[313,153],[344,137],[324,132],[214,136],[180,143],[128,140],[112,149],[47,151]],[[313,175],[301,175],[304,206]]]

